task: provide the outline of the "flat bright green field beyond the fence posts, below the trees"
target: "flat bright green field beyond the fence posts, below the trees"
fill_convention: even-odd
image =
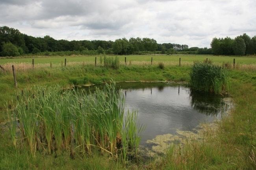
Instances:
[[[97,62],[99,62],[100,55],[98,56],[59,56],[59,57],[47,57],[47,56],[37,56],[35,57],[35,64],[61,64],[61,61],[64,63],[65,58],[67,58],[67,62],[94,62],[95,57],[97,57]],[[118,56],[121,62],[124,62],[124,57],[126,57],[127,63],[131,61],[151,61],[151,57],[153,57],[153,62],[174,62],[176,64],[179,63],[179,58],[181,58],[181,63],[193,63],[193,61],[202,61],[208,58],[208,60],[212,60],[215,63],[222,64],[223,62],[233,63],[233,59],[236,58],[236,63],[239,64],[256,64],[256,57],[245,57],[245,56],[213,56],[213,55],[122,55]],[[6,58],[0,57],[0,65],[8,62],[26,62],[32,63],[33,57],[13,57]]]

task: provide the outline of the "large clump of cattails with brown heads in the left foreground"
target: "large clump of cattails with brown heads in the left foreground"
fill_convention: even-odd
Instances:
[[[16,141],[19,147],[27,145],[32,155],[37,150],[91,154],[98,148],[125,163],[128,152],[137,152],[143,126],[137,124],[135,111],[124,113],[124,96],[115,83],[88,94],[74,88],[37,86],[18,95],[15,109],[7,113],[11,122],[17,117],[20,124],[11,123],[10,133],[13,145]],[[20,129],[19,137],[16,129]]]

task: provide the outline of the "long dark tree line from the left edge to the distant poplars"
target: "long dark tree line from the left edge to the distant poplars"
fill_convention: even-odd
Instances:
[[[33,37],[20,33],[18,29],[0,27],[0,56],[19,56],[24,54],[142,54],[174,53],[188,48],[187,45],[158,44],[153,38],[126,38],[115,41],[105,40],[55,40],[45,37]],[[64,52],[65,51],[65,52]]]

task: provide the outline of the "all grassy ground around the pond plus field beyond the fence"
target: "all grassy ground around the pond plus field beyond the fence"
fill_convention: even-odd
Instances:
[[[67,60],[83,61],[83,58],[90,58],[94,61],[95,56],[76,57],[43,57],[35,58],[35,63],[40,60],[42,63],[56,62],[63,58]],[[124,58],[124,56],[120,56]],[[175,56],[126,56],[138,58],[145,61],[153,57],[161,58],[159,61],[169,62],[178,60]],[[142,57],[142,58],[139,58]],[[190,58],[192,57],[192,58]],[[72,58],[72,59],[71,59]],[[80,59],[78,59],[80,58]],[[98,57],[97,57],[98,58]],[[168,60],[169,58],[169,60]],[[222,63],[236,62],[244,64],[256,64],[254,57],[218,57],[218,56],[181,56],[187,62],[193,60],[204,60],[208,58]],[[0,59],[0,63],[7,62],[31,62],[32,58]],[[88,59],[89,60],[89,59]],[[165,62],[164,62],[165,63]],[[177,62],[178,63],[178,62]],[[93,66],[83,64],[72,64],[67,67],[40,67],[34,69],[17,69],[18,88],[25,89],[33,85],[60,84],[67,87],[70,84],[98,84],[102,81],[128,81],[128,80],[174,80],[189,81],[191,66],[165,65],[160,69],[157,65],[150,64],[121,65],[119,69],[105,68],[104,66]],[[166,155],[160,159],[142,161],[135,159],[128,162],[126,168],[122,163],[109,158],[107,155],[94,153],[91,156],[70,156],[70,151],[63,151],[55,155],[48,155],[47,152],[36,153],[32,156],[27,150],[15,150],[11,146],[11,136],[4,126],[7,115],[4,110],[5,101],[15,102],[16,89],[13,83],[11,72],[4,73],[0,70],[0,169],[161,169],[161,170],[252,170],[256,169],[256,71],[254,69],[230,69],[229,95],[234,99],[235,108],[230,114],[224,117],[216,129],[209,129],[205,134],[204,142],[188,142],[185,146],[175,145],[171,147]]]

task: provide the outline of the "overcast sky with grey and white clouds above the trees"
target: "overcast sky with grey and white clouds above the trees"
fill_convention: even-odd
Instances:
[[[35,37],[209,47],[213,37],[256,35],[256,0],[0,0],[0,26]]]

